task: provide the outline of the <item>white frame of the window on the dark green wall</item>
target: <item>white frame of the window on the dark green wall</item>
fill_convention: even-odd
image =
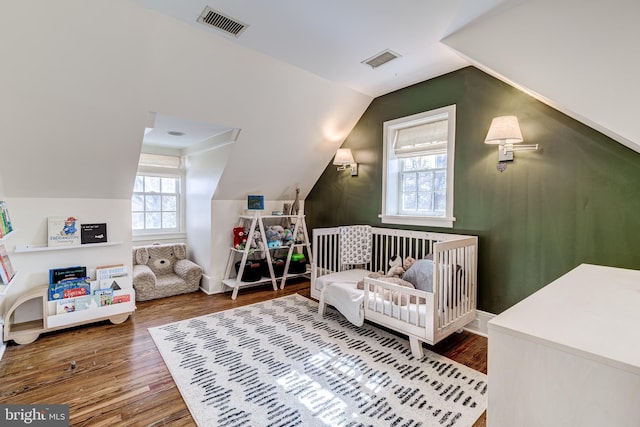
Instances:
[[[447,119],[447,196],[444,216],[403,215],[399,212],[400,158],[396,156],[394,142],[397,132],[407,127],[418,126]],[[453,216],[454,201],[454,153],[456,132],[456,106],[449,105],[435,110],[389,120],[383,124],[383,162],[382,162],[382,214],[384,224],[418,225],[452,228],[456,218]]]

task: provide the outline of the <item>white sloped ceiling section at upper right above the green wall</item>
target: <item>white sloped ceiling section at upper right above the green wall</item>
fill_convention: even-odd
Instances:
[[[640,151],[640,3],[512,3],[443,43],[474,65]]]

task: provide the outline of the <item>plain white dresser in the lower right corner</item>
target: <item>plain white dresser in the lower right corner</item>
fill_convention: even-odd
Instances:
[[[640,426],[640,271],[582,264],[488,326],[488,426]]]

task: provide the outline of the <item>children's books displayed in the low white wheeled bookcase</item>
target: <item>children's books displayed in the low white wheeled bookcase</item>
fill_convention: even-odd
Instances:
[[[87,268],[73,266],[49,270],[49,301],[56,301],[56,314],[104,307],[131,301],[123,292],[130,280],[124,264],[96,267],[96,279],[87,276]]]

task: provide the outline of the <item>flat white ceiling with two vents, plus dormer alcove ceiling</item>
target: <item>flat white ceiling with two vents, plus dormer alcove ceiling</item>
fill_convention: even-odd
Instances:
[[[132,0],[217,37],[371,97],[469,65],[440,40],[513,0]],[[197,21],[206,7],[242,22],[238,36]],[[372,68],[363,61],[391,50],[399,57]],[[228,129],[158,116],[144,143],[184,148]],[[210,135],[203,134],[209,127]],[[167,131],[185,135],[171,136]],[[177,144],[177,145],[175,145]]]

